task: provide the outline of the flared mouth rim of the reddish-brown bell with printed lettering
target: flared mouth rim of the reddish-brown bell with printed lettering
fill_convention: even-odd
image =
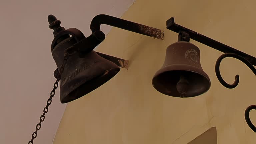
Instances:
[[[196,96],[199,96],[199,95],[202,95],[202,94],[206,93],[206,92],[211,88],[211,80],[210,80],[209,76],[208,76],[202,69],[199,69],[199,68],[197,68],[197,67],[195,67],[195,66],[191,66],[191,65],[186,65],[187,68],[184,68],[184,65],[185,65],[185,64],[172,64],[172,65],[167,65],[167,66],[162,67],[160,70],[158,70],[158,71],[155,73],[155,75],[154,75],[154,77],[153,77],[153,79],[152,79],[152,85],[153,85],[153,87],[154,87],[158,92],[160,92],[160,93],[162,93],[162,94],[164,94],[164,95],[168,95],[168,96],[172,96],[172,97],[179,97],[179,96],[173,96],[173,95],[170,95],[170,94],[165,93],[164,91],[162,91],[161,89],[159,89],[159,86],[154,85],[154,82],[157,81],[156,78],[157,78],[159,75],[161,75],[161,74],[163,74],[163,73],[165,73],[165,72],[168,72],[168,71],[189,71],[189,72],[193,72],[193,73],[196,73],[196,74],[198,74],[198,75],[203,76],[203,78],[205,78],[205,80],[207,80],[207,84],[206,84],[204,90],[203,90],[200,94],[194,95],[194,96],[188,96],[188,97],[184,97],[184,98],[196,97]],[[182,67],[179,68],[179,66],[182,66],[183,68],[182,68]],[[174,69],[173,67],[175,67],[175,69]],[[188,67],[192,68],[193,70],[188,69]],[[196,71],[196,70],[197,70],[197,71]]]

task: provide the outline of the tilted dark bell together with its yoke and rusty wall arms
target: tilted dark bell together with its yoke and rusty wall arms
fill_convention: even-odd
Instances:
[[[64,53],[71,55],[61,78],[61,103],[75,100],[98,88],[116,75],[119,67],[128,69],[128,60],[93,51],[105,39],[105,34],[100,31],[101,24],[163,39],[162,30],[108,15],[97,15],[93,18],[90,26],[92,34],[87,38],[76,28],[61,27],[61,22],[53,15],[48,16],[48,21],[49,27],[54,30],[51,51],[58,69]],[[58,69],[54,72],[55,77]]]

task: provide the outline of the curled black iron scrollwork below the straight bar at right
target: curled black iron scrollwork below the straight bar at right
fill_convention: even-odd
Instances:
[[[254,66],[249,62],[247,61],[244,57],[240,56],[240,55],[237,55],[237,54],[234,54],[234,53],[225,53],[225,54],[222,54],[216,61],[216,64],[215,64],[215,73],[216,73],[216,76],[218,78],[218,80],[220,81],[220,83],[225,86],[226,88],[229,88],[229,89],[232,89],[232,88],[235,88],[238,83],[239,83],[239,75],[236,75],[235,76],[235,81],[233,84],[228,84],[227,82],[224,81],[224,79],[222,78],[221,74],[220,74],[220,63],[221,61],[226,58],[226,57],[232,57],[232,58],[235,58],[235,59],[238,59],[240,61],[242,61],[244,64],[246,64],[250,69],[251,71],[254,73],[254,75],[256,76],[256,69],[254,68]],[[256,110],[256,105],[251,105],[249,106],[246,110],[245,110],[245,113],[244,113],[244,117],[245,117],[245,120],[246,120],[246,123],[249,125],[249,127],[254,131],[256,132],[256,127],[252,124],[251,120],[250,120],[250,117],[249,117],[249,112],[251,110]]]

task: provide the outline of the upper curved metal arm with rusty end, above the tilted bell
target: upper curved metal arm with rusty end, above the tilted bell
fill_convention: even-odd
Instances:
[[[104,14],[97,15],[92,19],[90,29],[92,30],[92,32],[95,32],[96,30],[100,30],[101,24],[110,25],[113,27],[125,29],[128,31],[132,31],[132,32],[143,34],[146,36],[158,38],[161,40],[164,39],[164,31],[163,30],[145,26],[145,25],[138,24],[138,23],[134,23],[131,21],[123,20],[123,19],[120,19],[117,17],[104,15]]]

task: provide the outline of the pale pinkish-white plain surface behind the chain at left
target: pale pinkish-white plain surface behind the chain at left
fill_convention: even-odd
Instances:
[[[43,112],[55,78],[50,46],[53,14],[66,29],[91,34],[97,14],[120,17],[135,0],[1,0],[0,2],[0,143],[28,143]],[[110,26],[102,31],[109,32]],[[34,144],[52,143],[66,105],[57,90]]]

